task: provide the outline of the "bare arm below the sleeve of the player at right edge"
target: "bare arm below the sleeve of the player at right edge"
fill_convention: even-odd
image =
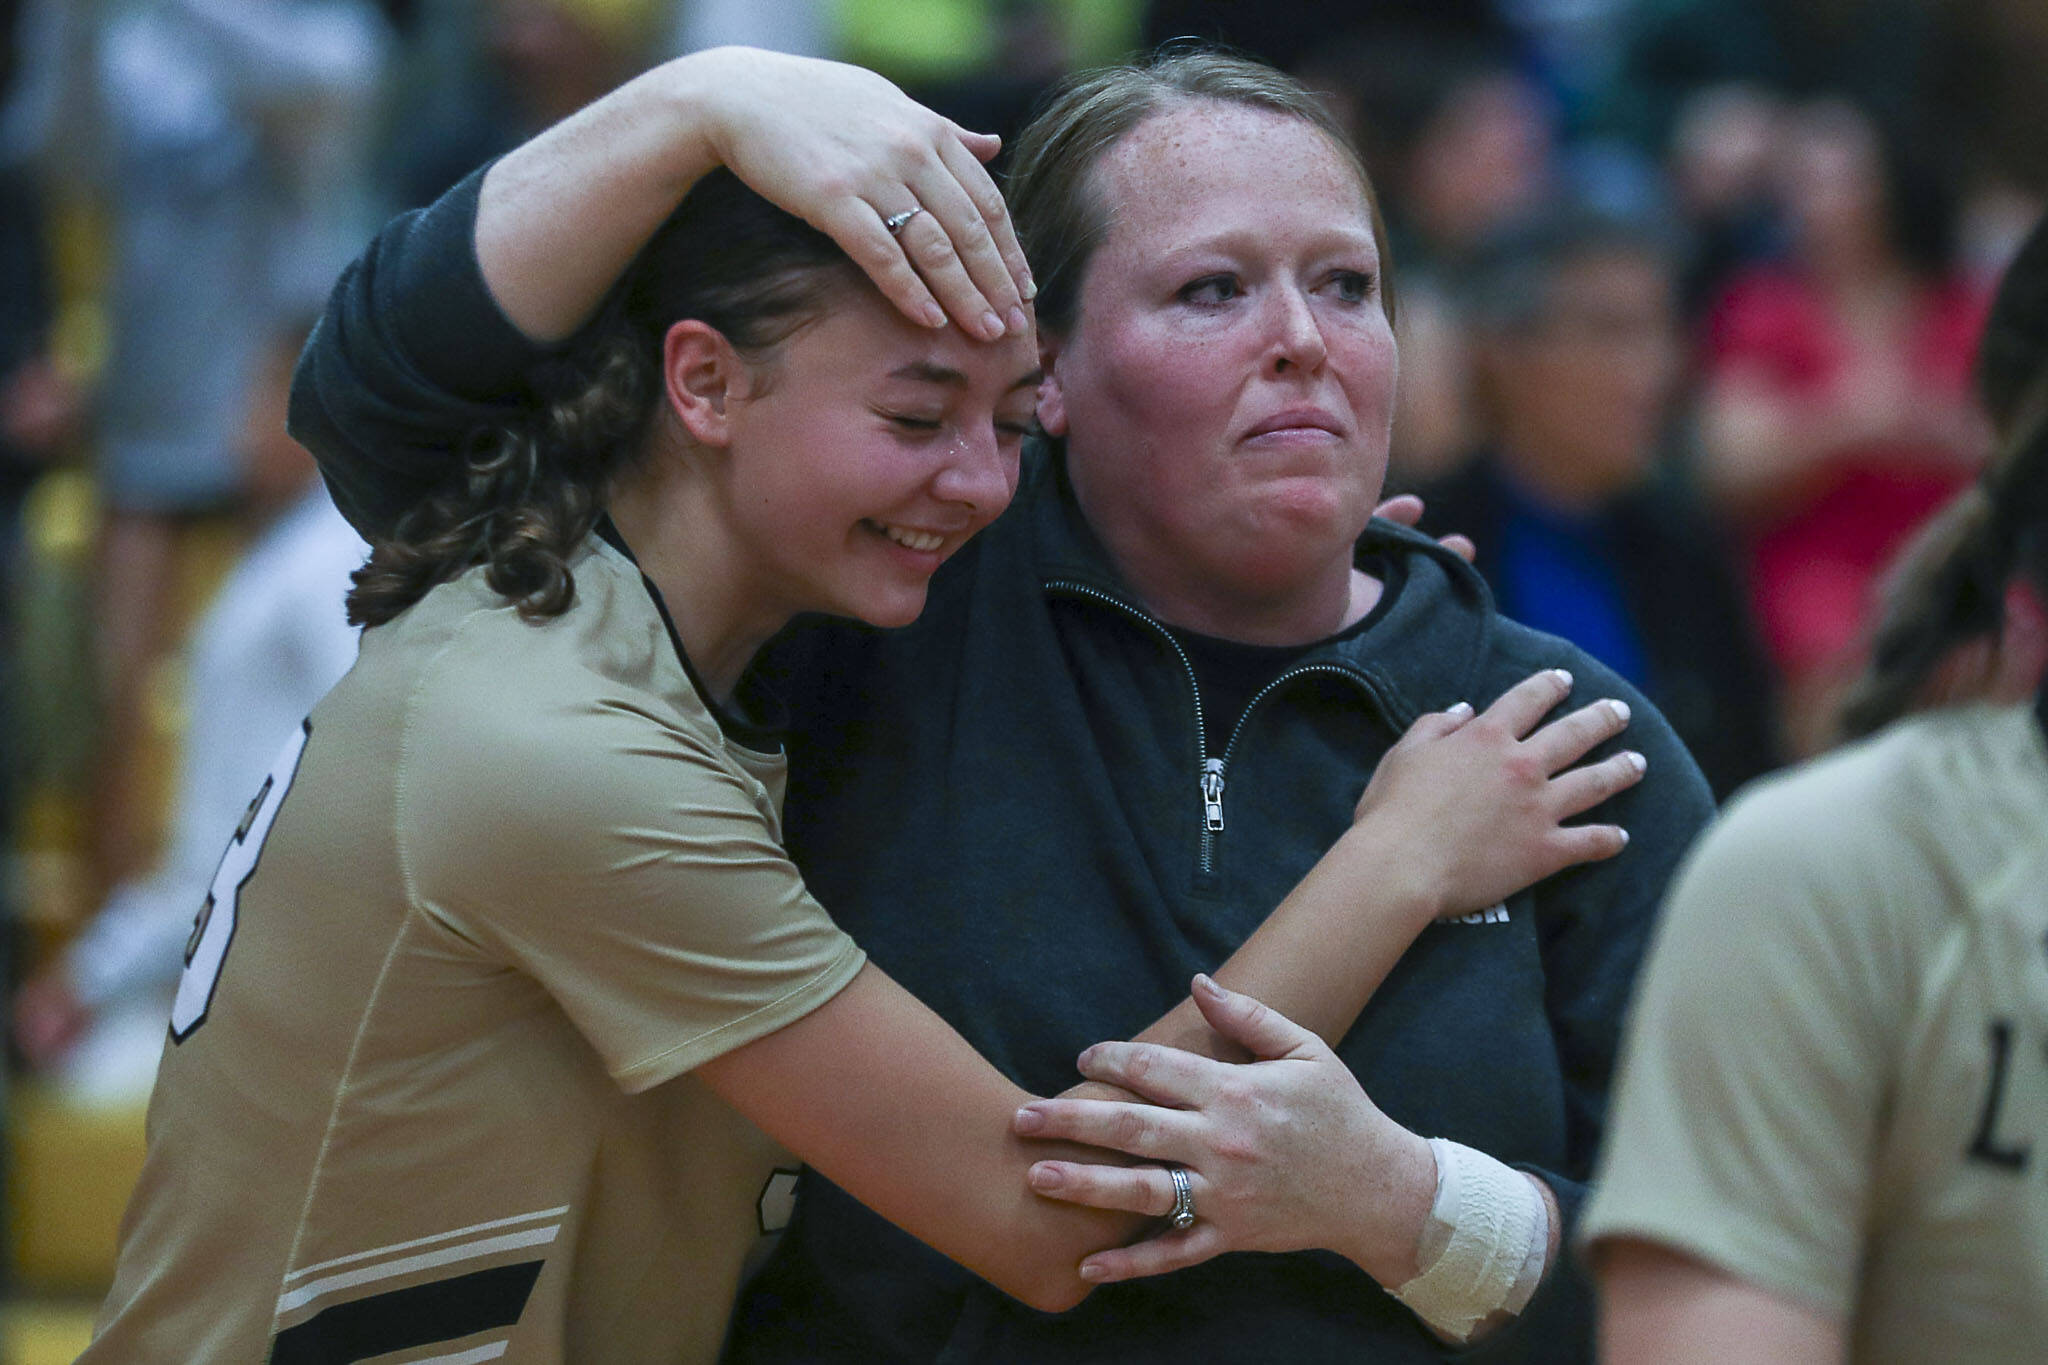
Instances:
[[[1608,1365],[1812,1365],[1841,1361],[1841,1322],[1638,1238],[1604,1242],[1599,1359]]]

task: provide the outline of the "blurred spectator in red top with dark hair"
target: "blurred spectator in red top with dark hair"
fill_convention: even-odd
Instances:
[[[1704,487],[1747,540],[1753,610],[1790,741],[1829,739],[1878,569],[1970,481],[1968,391],[1985,297],[1950,270],[1950,199],[1843,100],[1788,117],[1792,256],[1714,305]]]

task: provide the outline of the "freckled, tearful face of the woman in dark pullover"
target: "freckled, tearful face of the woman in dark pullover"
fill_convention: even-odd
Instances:
[[[1190,102],[1094,184],[1110,229],[1038,407],[1083,514],[1176,624],[1341,602],[1395,393],[1358,172],[1298,119]]]

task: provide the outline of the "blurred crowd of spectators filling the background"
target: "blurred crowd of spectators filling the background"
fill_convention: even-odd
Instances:
[[[1360,133],[1425,526],[1716,794],[1833,743],[1886,567],[1989,450],[1972,338],[2048,192],[2038,0],[0,0],[16,1060],[145,1093],[219,847],[348,667],[362,546],[283,403],[385,215],[694,47],[1008,133],[1184,35]],[[2009,616],[1978,665],[2017,696],[2048,632]]]

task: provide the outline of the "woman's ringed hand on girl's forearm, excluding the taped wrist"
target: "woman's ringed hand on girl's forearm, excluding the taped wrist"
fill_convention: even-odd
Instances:
[[[1323,1246],[1380,1283],[1411,1279],[1436,1185],[1430,1144],[1380,1113],[1309,1029],[1206,976],[1196,976],[1194,1001],[1210,1027],[1260,1060],[1096,1044],[1081,1054],[1081,1072],[1151,1103],[1034,1099],[1018,1109],[1022,1136],[1159,1162],[1042,1160],[1028,1173],[1040,1195],[1159,1218],[1174,1207],[1165,1166],[1188,1171],[1192,1228],[1096,1252],[1081,1275],[1106,1283],[1178,1271],[1225,1250]]]

